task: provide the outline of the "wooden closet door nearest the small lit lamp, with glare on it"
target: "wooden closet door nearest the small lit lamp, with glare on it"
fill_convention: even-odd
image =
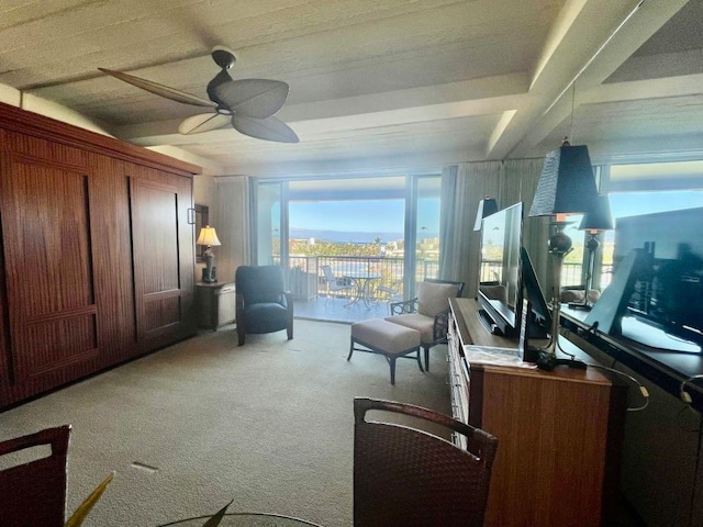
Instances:
[[[193,333],[190,194],[182,195],[178,184],[146,178],[131,179],[130,188],[137,340],[153,347]],[[191,234],[185,237],[183,232]]]

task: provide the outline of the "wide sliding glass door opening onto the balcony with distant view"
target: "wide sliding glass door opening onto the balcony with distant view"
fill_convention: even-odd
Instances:
[[[375,277],[365,285],[366,306],[411,298],[419,281],[437,276],[439,176],[253,184],[256,261],[280,262],[299,301],[324,298],[331,305],[323,266],[343,279]]]

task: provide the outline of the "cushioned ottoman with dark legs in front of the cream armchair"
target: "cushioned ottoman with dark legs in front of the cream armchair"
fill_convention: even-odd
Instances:
[[[352,324],[352,345],[347,360],[352,359],[355,350],[386,357],[391,367],[391,384],[395,384],[395,359],[399,357],[416,359],[420,371],[425,371],[420,360],[420,332],[412,327],[393,324],[382,318],[355,322]],[[415,357],[411,357],[411,354],[415,354]]]

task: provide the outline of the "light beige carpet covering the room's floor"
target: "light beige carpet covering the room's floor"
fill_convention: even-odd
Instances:
[[[449,413],[446,346],[429,373],[378,355],[347,362],[349,326],[295,321],[286,333],[205,333],[0,413],[0,439],[72,425],[68,514],[111,471],[87,527],[149,527],[211,514],[274,512],[353,523],[355,396]]]

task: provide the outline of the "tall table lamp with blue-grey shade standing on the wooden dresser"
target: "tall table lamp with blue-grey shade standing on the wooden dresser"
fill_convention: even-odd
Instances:
[[[583,362],[557,359],[556,348],[559,338],[559,310],[561,265],[563,257],[571,250],[571,238],[563,233],[567,214],[589,214],[596,206],[598,190],[593,167],[585,145],[571,146],[568,138],[560,148],[545,157],[545,165],[537,182],[535,198],[529,216],[556,216],[551,222],[554,234],[549,238],[548,249],[553,256],[551,290],[551,330],[549,343],[539,348],[537,366],[551,370],[557,365],[583,368]]]

